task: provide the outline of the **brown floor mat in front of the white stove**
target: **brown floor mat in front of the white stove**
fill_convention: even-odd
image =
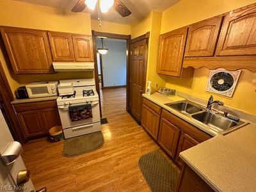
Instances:
[[[102,132],[93,132],[64,141],[63,156],[74,157],[97,150],[104,145]]]

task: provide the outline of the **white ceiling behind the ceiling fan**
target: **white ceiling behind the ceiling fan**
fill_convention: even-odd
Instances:
[[[44,6],[51,6],[63,10],[72,10],[78,0],[15,0],[24,3],[40,4]],[[122,3],[131,10],[131,15],[122,17],[113,8],[108,13],[102,13],[102,20],[109,22],[118,22],[122,24],[133,24],[143,19],[151,10],[163,12],[173,4],[180,0],[122,0]],[[83,12],[90,13],[92,19],[97,19],[97,10],[89,10],[85,8]]]

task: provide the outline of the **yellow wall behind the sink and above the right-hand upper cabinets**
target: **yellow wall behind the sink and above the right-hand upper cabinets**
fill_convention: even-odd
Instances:
[[[163,12],[161,33],[166,33],[251,3],[255,3],[255,0],[207,0],[207,2],[204,0],[181,0]],[[209,70],[207,68],[196,69],[193,79],[166,77],[166,86],[203,99],[208,99],[210,95],[214,95],[214,99],[225,102],[227,106],[256,115],[255,73],[243,70],[232,98],[206,92],[205,87],[208,75]]]

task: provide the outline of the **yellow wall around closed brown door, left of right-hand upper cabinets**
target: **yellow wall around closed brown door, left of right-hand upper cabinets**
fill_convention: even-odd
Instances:
[[[152,81],[153,89],[157,88],[156,83],[159,87],[165,85],[163,77],[156,73],[161,17],[162,13],[152,11],[143,20],[131,26],[131,38],[136,38],[148,31],[150,32],[150,38],[148,40],[147,81]]]

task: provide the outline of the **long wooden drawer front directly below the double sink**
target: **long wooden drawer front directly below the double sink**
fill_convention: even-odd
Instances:
[[[188,132],[188,134],[190,134],[191,136],[193,136],[194,138],[196,138],[196,140],[198,140],[200,142],[206,141],[206,140],[209,140],[210,138],[212,138],[212,136],[210,136],[209,134],[207,134],[203,131],[200,131],[200,129],[198,129],[195,126],[189,124],[188,122],[182,120],[181,118],[173,115],[172,113],[170,113],[169,111],[166,111],[165,109],[163,109],[163,111],[162,111],[162,117],[165,118],[166,120],[172,122],[172,124],[176,125],[183,131]]]

